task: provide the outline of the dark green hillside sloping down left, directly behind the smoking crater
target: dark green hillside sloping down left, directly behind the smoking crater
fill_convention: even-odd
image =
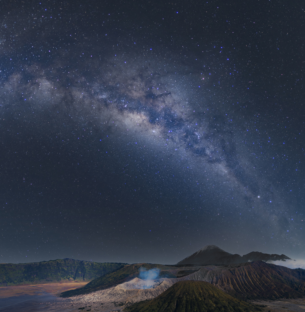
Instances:
[[[146,270],[158,268],[160,269],[159,277],[166,278],[175,278],[171,270],[172,267],[164,266],[161,264],[150,264],[150,263],[140,263],[140,264],[128,264],[122,265],[118,270],[108,273],[104,276],[97,278],[96,280],[92,280],[90,283],[85,285],[84,287],[68,290],[61,294],[61,297],[71,297],[76,295],[84,295],[89,294],[93,291],[102,290],[106,288],[110,288],[112,286],[116,286],[118,284],[129,281],[135,277],[138,277],[140,274],[140,267],[145,268]]]

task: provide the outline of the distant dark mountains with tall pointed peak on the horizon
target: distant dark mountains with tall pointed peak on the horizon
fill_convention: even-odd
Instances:
[[[231,254],[227,251],[220,249],[215,245],[207,245],[203,248],[199,249],[192,255],[184,258],[179,261],[177,264],[200,264],[200,265],[208,265],[208,264],[232,264],[232,263],[242,263],[249,261],[286,261],[292,260],[288,256],[285,255],[277,255],[277,254],[265,254],[259,251],[252,251],[244,256],[240,256],[238,254]]]

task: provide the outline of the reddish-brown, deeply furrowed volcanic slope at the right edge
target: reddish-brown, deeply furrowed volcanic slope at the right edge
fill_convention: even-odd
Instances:
[[[200,271],[198,271],[200,273]],[[206,272],[202,272],[206,276]],[[196,274],[196,273],[195,273]],[[240,299],[297,298],[305,295],[305,270],[263,261],[208,272],[211,284]],[[195,279],[200,280],[200,276]]]

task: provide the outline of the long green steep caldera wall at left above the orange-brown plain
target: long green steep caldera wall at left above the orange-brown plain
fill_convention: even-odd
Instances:
[[[122,263],[98,263],[57,259],[32,263],[1,263],[0,286],[90,281],[121,267]]]

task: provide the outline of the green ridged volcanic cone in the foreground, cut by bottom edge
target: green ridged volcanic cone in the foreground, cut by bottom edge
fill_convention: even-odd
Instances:
[[[128,312],[250,312],[258,306],[233,298],[204,281],[181,281],[152,300],[125,308]]]

